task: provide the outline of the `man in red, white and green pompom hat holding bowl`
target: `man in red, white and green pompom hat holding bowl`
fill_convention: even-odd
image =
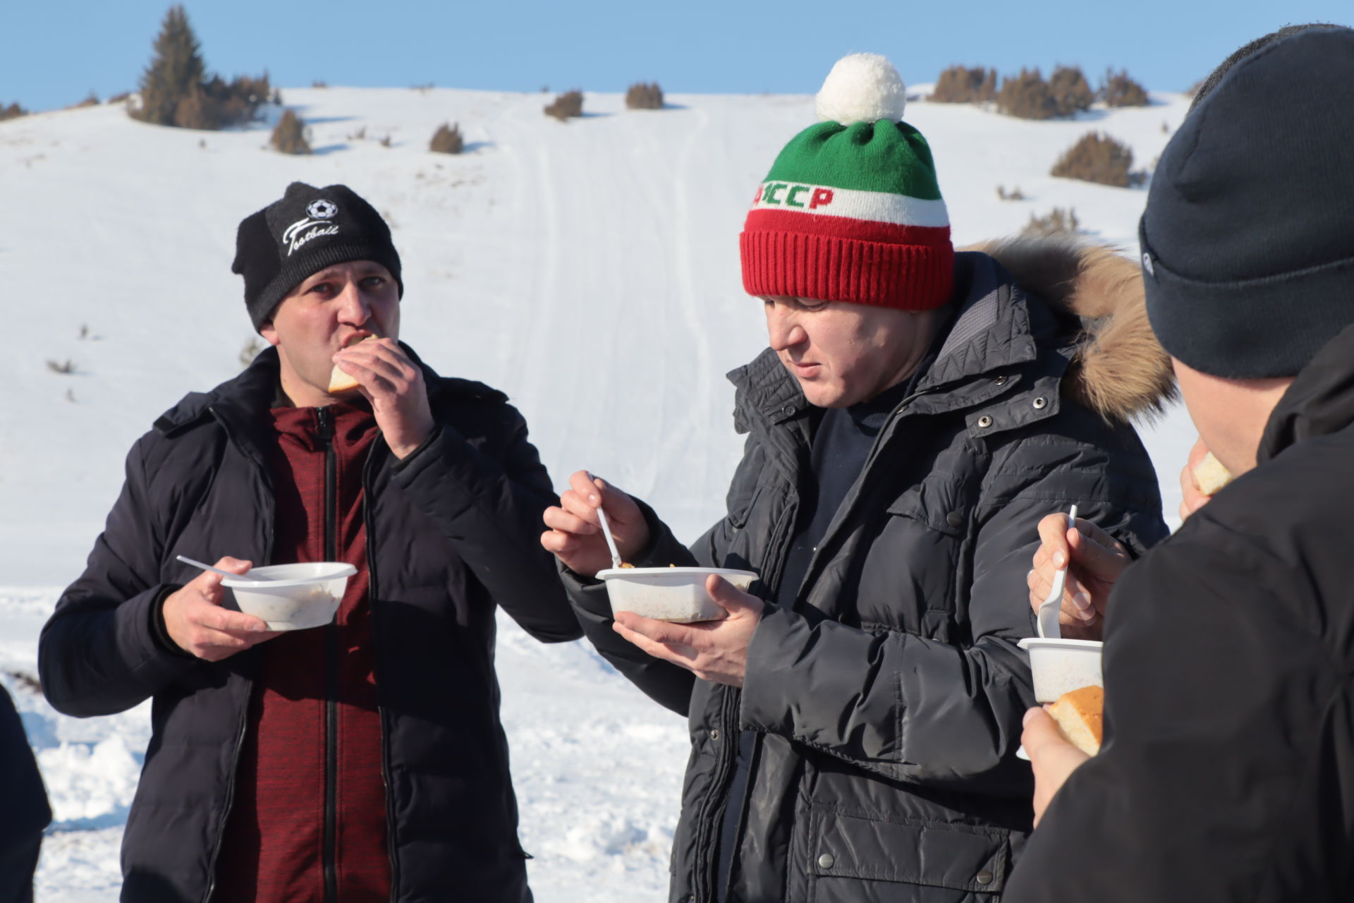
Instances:
[[[770,348],[730,375],[747,443],[727,516],[688,548],[585,471],[546,512],[589,639],[689,718],[673,900],[999,894],[1030,827],[1036,524],[1076,502],[1128,550],[1166,533],[1127,425],[1169,386],[1122,338],[1151,343],[1137,265],[994,249],[1016,279],[956,255],[904,102],[887,60],[846,57],[756,190],[743,286]],[[760,579],[708,579],[720,620],[612,616],[598,508],[627,562]]]

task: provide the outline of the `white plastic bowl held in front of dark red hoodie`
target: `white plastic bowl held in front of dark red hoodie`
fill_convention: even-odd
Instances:
[[[356,573],[343,562],[268,565],[222,579],[221,585],[236,594],[240,611],[268,621],[268,630],[299,631],[334,619],[348,578]]]

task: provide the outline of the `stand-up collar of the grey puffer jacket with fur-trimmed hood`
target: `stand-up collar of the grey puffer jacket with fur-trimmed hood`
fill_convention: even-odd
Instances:
[[[1026,295],[995,260],[979,252],[955,255],[956,301],[959,310],[940,353],[918,379],[919,393],[945,393],[927,405],[964,408],[1002,394],[1007,383],[979,376],[1014,371],[1039,356],[1040,340],[1052,337],[1056,322],[1045,309],[1032,307]],[[1060,375],[1060,374],[1059,374]],[[753,417],[772,425],[806,414],[812,406],[803,390],[770,348],[751,363],[728,374],[737,387],[734,428],[746,433]]]

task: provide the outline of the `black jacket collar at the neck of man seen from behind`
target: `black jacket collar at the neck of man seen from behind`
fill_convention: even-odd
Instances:
[[[1354,424],[1354,326],[1326,343],[1288,387],[1265,425],[1257,452],[1263,464],[1289,445]]]

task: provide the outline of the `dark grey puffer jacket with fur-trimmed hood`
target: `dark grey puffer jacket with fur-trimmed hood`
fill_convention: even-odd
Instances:
[[[1062,275],[1089,260],[1053,252]],[[674,902],[714,899],[745,730],[757,743],[733,900],[968,900],[1001,892],[1024,845],[1032,781],[1014,753],[1033,692],[1016,643],[1033,628],[1036,524],[1076,502],[1136,550],[1166,527],[1133,431],[1060,391],[1075,318],[1028,296],[986,255],[959,256],[957,286],[948,341],[880,432],[796,604],[768,605],[742,692],[646,657],[612,632],[604,588],[567,581],[598,650],[689,713]],[[689,551],[651,517],[658,540],[635,563],[754,570],[753,592],[773,598],[818,412],[774,353],[731,379],[747,444],[728,516]]]

